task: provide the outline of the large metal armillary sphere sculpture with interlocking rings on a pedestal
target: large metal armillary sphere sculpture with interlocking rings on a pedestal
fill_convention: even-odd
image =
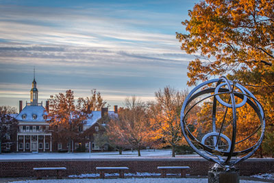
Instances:
[[[209,132],[201,132],[203,130],[195,126],[197,120],[192,120],[191,123],[188,121],[191,111],[198,107],[201,109],[205,103],[211,105],[208,110],[210,114],[207,118],[203,117],[207,119],[205,123],[208,123],[206,127]],[[247,108],[255,112],[252,119],[258,121],[257,125],[250,124],[254,129],[251,134],[244,133],[245,127],[241,126],[240,129],[237,126],[242,120],[238,119],[238,113]],[[234,164],[252,156],[262,143],[265,128],[264,110],[247,88],[227,80],[226,77],[220,77],[199,84],[188,94],[181,110],[181,126],[186,141],[197,154],[229,171]],[[195,127],[197,130],[193,130]]]

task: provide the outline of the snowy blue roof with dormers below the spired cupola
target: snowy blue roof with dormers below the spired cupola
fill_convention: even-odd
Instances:
[[[45,121],[44,115],[47,115],[47,112],[43,106],[25,106],[16,119],[18,121]]]

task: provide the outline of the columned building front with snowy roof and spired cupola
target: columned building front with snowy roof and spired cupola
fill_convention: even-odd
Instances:
[[[19,101],[18,132],[16,135],[16,151],[52,151],[52,137],[47,122],[47,111],[38,103],[38,89],[36,81],[32,82],[30,102]],[[48,108],[48,103],[47,103]]]

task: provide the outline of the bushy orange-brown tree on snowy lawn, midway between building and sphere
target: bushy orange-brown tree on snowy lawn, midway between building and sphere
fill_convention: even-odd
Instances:
[[[145,103],[136,97],[127,97],[125,108],[119,109],[118,117],[110,119],[107,132],[117,147],[133,147],[141,156],[140,148],[147,145],[153,135]]]

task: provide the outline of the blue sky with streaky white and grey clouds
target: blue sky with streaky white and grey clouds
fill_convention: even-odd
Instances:
[[[188,88],[188,62],[175,32],[185,32],[199,1],[0,0],[0,106],[97,89],[110,104],[155,99],[165,86]]]

